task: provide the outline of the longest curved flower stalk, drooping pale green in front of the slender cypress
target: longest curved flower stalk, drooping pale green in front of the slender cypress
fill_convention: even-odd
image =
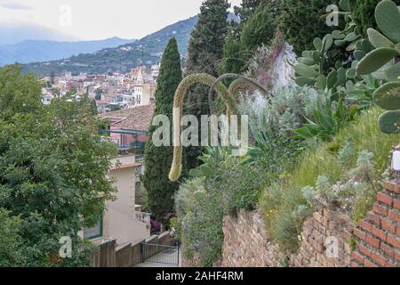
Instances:
[[[185,77],[178,86],[175,92],[175,98],[173,100],[173,160],[169,178],[171,181],[177,181],[180,178],[182,172],[182,146],[180,143],[180,119],[183,113],[183,100],[185,95],[188,93],[188,89],[196,84],[208,85],[214,89],[220,98],[225,102],[227,106],[228,116],[233,114],[236,110],[236,102],[233,98],[230,98],[228,89],[222,83],[214,84],[217,78],[212,77],[206,73],[192,74]],[[176,110],[179,110],[178,112]]]

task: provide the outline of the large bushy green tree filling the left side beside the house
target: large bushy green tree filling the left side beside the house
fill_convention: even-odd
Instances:
[[[44,106],[41,88],[19,66],[0,69],[0,208],[18,230],[6,239],[26,266],[89,265],[92,246],[77,232],[99,222],[113,197],[116,149],[100,140],[90,104],[66,96]],[[72,258],[57,257],[62,236],[73,241]]]

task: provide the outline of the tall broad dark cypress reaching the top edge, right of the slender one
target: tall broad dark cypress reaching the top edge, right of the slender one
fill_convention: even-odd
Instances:
[[[185,76],[205,72],[218,77],[217,66],[223,56],[223,46],[228,32],[227,0],[205,0],[200,7],[196,28],[193,30],[188,46],[188,59]],[[188,93],[185,113],[195,115],[210,114],[208,88],[196,86]],[[199,124],[200,125],[200,124]],[[185,148],[183,174],[199,165],[200,147]]]

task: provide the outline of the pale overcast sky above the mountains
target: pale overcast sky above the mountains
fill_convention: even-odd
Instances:
[[[203,0],[0,0],[0,28],[41,27],[76,39],[140,38],[199,12]],[[232,6],[241,0],[230,0]],[[69,13],[70,11],[70,13]]]

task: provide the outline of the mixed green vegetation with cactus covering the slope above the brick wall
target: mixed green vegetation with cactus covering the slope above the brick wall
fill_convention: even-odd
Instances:
[[[260,208],[280,248],[295,251],[303,222],[315,210],[327,203],[358,222],[388,179],[389,154],[398,142],[393,133],[400,122],[400,14],[393,2],[380,1],[375,13],[378,31],[365,27],[369,24],[354,11],[366,9],[368,3],[354,8],[362,3],[341,0],[340,27],[329,28],[323,17],[328,4],[332,2],[283,2],[278,27],[300,55],[294,65],[296,85],[282,88],[272,99],[249,90],[239,93],[239,110],[250,118],[249,151],[233,159],[228,149],[208,150],[204,164],[191,171],[196,178],[181,185],[176,206],[185,256],[200,257],[202,265],[220,258],[222,219],[235,215],[236,209]],[[256,14],[244,17],[237,33],[229,35],[228,58],[244,51],[237,45],[238,34],[244,37]],[[262,17],[268,18],[268,13]],[[270,45],[255,44],[256,52],[250,60],[241,58],[246,62],[240,68],[268,86],[278,43],[275,39]],[[232,62],[225,66],[239,69]],[[388,112],[380,116],[375,103]],[[388,126],[391,131],[382,134],[380,129]],[[237,173],[242,175],[236,178]]]

